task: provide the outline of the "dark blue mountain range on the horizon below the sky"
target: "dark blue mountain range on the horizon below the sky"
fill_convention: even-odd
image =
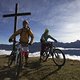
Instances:
[[[54,43],[56,47],[62,48],[80,48],[80,40],[70,43],[57,42]],[[30,52],[40,51],[40,42],[35,42],[33,45],[29,46]],[[12,50],[12,45],[9,44],[0,44],[0,50]]]

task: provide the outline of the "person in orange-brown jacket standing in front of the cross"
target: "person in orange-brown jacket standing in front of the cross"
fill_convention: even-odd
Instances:
[[[27,20],[23,21],[23,28],[17,30],[14,34],[12,34],[9,38],[9,42],[13,41],[14,38],[20,35],[20,44],[23,47],[23,49],[26,48],[26,54],[25,54],[25,65],[27,64],[27,59],[28,59],[28,53],[27,53],[27,47],[28,44],[31,45],[34,40],[34,35],[32,30],[29,28],[29,22]],[[29,41],[29,37],[31,37]]]

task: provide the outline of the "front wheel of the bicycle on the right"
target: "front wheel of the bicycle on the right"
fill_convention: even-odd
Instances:
[[[57,66],[63,66],[65,64],[65,55],[60,49],[53,50],[52,59]]]

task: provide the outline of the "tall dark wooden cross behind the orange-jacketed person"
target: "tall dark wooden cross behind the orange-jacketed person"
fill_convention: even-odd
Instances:
[[[14,17],[14,33],[16,32],[17,16],[31,15],[30,12],[27,12],[27,13],[17,13],[17,10],[18,10],[18,3],[16,3],[15,13],[14,14],[3,15],[3,17]],[[15,50],[15,41],[16,41],[16,37],[14,38],[14,42],[13,42],[13,50]]]

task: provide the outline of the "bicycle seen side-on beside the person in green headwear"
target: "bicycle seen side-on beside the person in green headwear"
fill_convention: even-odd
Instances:
[[[65,64],[64,53],[54,46],[53,42],[48,42],[50,46],[46,46],[42,55],[40,55],[40,60],[43,62],[47,61],[48,57],[52,56],[52,60],[57,66],[63,66]]]

